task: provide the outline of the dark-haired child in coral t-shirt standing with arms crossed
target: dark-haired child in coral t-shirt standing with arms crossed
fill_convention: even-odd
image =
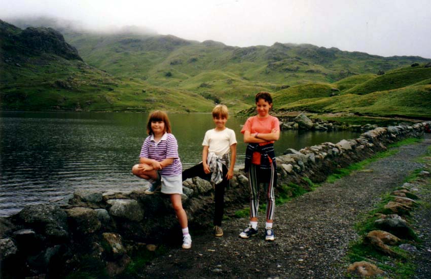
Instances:
[[[248,118],[241,130],[244,134],[244,143],[248,143],[245,152],[245,171],[248,173],[250,186],[250,223],[239,234],[242,238],[258,233],[259,185],[263,183],[267,199],[265,240],[275,240],[272,223],[277,175],[273,144],[280,137],[280,125],[276,117],[269,115],[271,108],[271,94],[259,92],[256,95],[258,114]]]

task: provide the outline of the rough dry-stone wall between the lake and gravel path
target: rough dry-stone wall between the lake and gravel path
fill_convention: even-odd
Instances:
[[[353,140],[323,143],[278,156],[278,185],[309,187],[304,178],[322,182],[335,169],[361,161],[390,143],[423,135],[425,124],[377,127]],[[212,224],[213,190],[199,178],[183,184],[183,205],[190,227]],[[145,189],[95,192],[78,190],[60,202],[28,205],[0,218],[1,270],[5,277],[66,274],[86,262],[115,275],[143,243],[181,243],[181,230],[168,197]],[[248,203],[248,179],[236,170],[225,194],[231,214]],[[151,246],[148,246],[151,249]]]

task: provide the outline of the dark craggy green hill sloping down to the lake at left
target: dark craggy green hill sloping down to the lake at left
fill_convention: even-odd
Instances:
[[[213,101],[107,74],[82,61],[51,28],[0,21],[0,98],[6,110],[208,111]],[[187,104],[187,106],[186,106]]]

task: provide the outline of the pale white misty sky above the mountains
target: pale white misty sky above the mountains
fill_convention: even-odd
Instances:
[[[429,0],[0,0],[0,19],[40,15],[239,47],[308,43],[431,58]]]

